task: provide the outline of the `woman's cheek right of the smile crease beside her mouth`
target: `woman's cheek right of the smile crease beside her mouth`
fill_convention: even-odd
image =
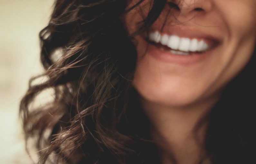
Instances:
[[[216,8],[221,13],[227,36],[223,61],[223,71],[219,85],[238,74],[250,60],[256,46],[256,1],[216,0]]]

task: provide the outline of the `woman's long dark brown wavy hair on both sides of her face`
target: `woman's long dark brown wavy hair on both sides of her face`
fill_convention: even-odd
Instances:
[[[38,163],[160,163],[131,82],[133,37],[147,31],[166,0],[154,0],[140,28],[128,34],[122,17],[142,2],[127,8],[125,0],[55,1],[40,32],[45,73],[30,80],[20,104],[25,139],[36,139]],[[255,70],[253,55],[207,116],[205,147],[213,163],[253,163]],[[47,89],[51,100],[34,105]]]

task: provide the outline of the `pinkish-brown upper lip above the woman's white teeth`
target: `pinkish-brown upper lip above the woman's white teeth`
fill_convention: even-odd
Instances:
[[[209,32],[205,32],[202,30],[189,28],[185,26],[171,26],[170,28],[164,28],[162,31],[158,30],[156,28],[150,28],[149,32],[160,32],[161,35],[167,34],[167,35],[176,35],[178,37],[184,37],[189,39],[203,39],[206,41],[206,43],[211,45],[217,45],[222,42],[222,37],[217,34],[212,34]]]

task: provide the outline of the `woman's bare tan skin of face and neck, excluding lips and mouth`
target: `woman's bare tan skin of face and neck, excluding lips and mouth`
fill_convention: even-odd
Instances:
[[[135,2],[130,1],[130,5]],[[255,0],[183,0],[178,6],[180,11],[174,10],[166,17],[166,5],[152,27],[160,31],[167,18],[163,28],[201,30],[219,37],[221,43],[204,60],[182,65],[154,59],[141,36],[135,37],[138,58],[133,86],[152,120],[152,136],[164,164],[171,163],[171,152],[178,163],[192,163],[200,157],[204,150],[195,143],[193,128],[216,103],[226,84],[248,63],[256,45]],[[149,9],[150,1],[145,0],[125,16],[130,33]],[[206,127],[198,131],[200,143]]]

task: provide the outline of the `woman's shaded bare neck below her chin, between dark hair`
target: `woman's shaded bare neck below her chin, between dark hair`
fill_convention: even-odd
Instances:
[[[202,158],[204,136],[210,112],[218,97],[184,107],[170,107],[141,100],[151,121],[152,139],[156,142],[163,164],[194,163]],[[173,157],[171,159],[170,157]],[[194,162],[192,162],[194,161]]]

